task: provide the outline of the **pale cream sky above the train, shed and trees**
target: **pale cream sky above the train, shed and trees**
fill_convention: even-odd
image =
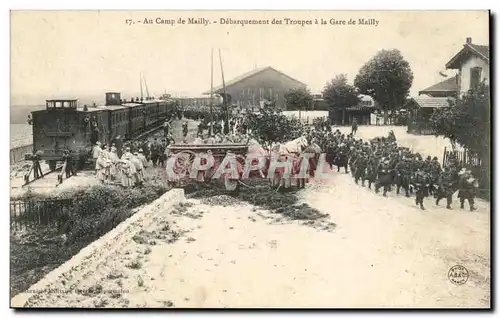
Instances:
[[[190,17],[210,24],[188,24]],[[269,24],[221,24],[226,18]],[[286,18],[312,24],[287,25]],[[360,25],[359,19],[378,24]],[[141,72],[151,95],[197,96],[210,90],[212,48],[214,86],[222,83],[220,49],[226,81],[272,66],[313,93],[340,73],[352,83],[377,51],[398,49],[413,70],[415,96],[445,79],[439,71],[467,37],[488,45],[488,23],[487,11],[12,11],[11,104],[103,98],[106,91],[139,96]]]

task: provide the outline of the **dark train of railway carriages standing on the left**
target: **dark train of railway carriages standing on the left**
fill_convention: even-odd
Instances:
[[[77,99],[46,101],[44,110],[34,111],[28,122],[33,126],[33,151],[26,160],[45,160],[51,170],[70,150],[73,160],[88,158],[97,141],[126,141],[159,127],[172,116],[173,101],[154,98],[122,100],[120,93],[106,93],[104,106],[78,105]],[[36,156],[35,156],[36,154]]]

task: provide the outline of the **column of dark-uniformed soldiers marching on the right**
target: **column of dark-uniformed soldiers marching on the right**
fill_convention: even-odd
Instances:
[[[362,186],[372,184],[376,193],[382,189],[383,196],[395,186],[410,197],[415,193],[415,204],[424,207],[424,198],[433,196],[436,205],[446,199],[446,207],[451,209],[452,196],[458,190],[460,207],[468,201],[470,210],[475,210],[474,197],[477,179],[471,171],[463,169],[454,156],[449,158],[444,169],[437,157],[425,160],[420,153],[400,147],[391,131],[388,137],[377,137],[370,141],[355,138],[353,134],[342,134],[339,130],[311,130],[308,139],[326,152],[326,160],[337,171],[344,168],[352,174],[354,181]]]

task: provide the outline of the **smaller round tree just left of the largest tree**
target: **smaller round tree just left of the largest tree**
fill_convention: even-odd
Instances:
[[[342,125],[345,122],[345,110],[359,103],[356,88],[347,82],[346,74],[339,74],[326,83],[323,99],[332,110],[342,112]]]

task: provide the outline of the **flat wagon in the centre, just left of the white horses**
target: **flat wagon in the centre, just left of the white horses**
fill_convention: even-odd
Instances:
[[[214,144],[214,145],[190,145],[190,144],[173,144],[167,147],[169,159],[167,161],[167,180],[174,187],[181,186],[184,181],[193,179],[190,177],[192,166],[197,154],[209,154],[214,158],[214,168],[208,171],[200,171],[195,180],[198,182],[206,182],[215,173],[218,167],[228,155],[234,154],[237,160],[238,171],[242,171],[245,164],[245,156],[248,153],[248,145],[245,143],[231,144]],[[201,159],[201,163],[204,159]],[[171,167],[171,169],[169,169]],[[228,191],[235,191],[238,188],[239,176],[233,179],[230,175],[223,175],[224,186]]]

